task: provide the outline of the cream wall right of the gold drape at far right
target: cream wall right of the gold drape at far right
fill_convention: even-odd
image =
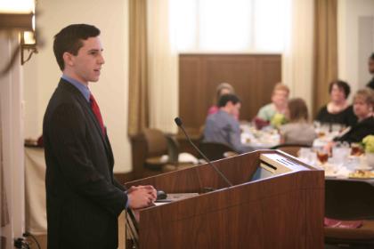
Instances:
[[[362,88],[369,81],[367,60],[369,52],[374,52],[374,44],[368,42],[370,39],[374,40],[374,30],[371,30],[368,36],[359,36],[359,23],[362,17],[374,20],[373,0],[338,1],[338,76],[351,84],[352,92]],[[366,56],[362,55],[363,50],[368,52]]]

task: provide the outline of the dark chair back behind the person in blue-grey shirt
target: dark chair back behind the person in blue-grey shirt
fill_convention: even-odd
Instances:
[[[238,155],[229,145],[219,142],[200,142],[199,149],[211,161],[222,159],[225,155],[226,157]]]

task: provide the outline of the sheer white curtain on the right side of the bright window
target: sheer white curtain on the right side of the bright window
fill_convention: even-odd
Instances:
[[[291,97],[303,98],[312,110],[313,0],[292,0],[289,40],[282,55],[282,82]]]

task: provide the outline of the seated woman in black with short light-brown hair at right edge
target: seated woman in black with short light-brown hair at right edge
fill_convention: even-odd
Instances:
[[[359,90],[354,95],[354,114],[358,122],[346,133],[334,139],[334,141],[361,142],[367,135],[374,134],[374,92],[370,88]]]

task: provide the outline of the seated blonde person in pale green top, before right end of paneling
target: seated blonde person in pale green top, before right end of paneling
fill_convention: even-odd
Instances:
[[[286,84],[275,84],[272,90],[272,103],[260,108],[256,118],[264,121],[271,122],[272,117],[276,114],[282,116],[287,111],[287,102],[289,100],[289,87]]]

